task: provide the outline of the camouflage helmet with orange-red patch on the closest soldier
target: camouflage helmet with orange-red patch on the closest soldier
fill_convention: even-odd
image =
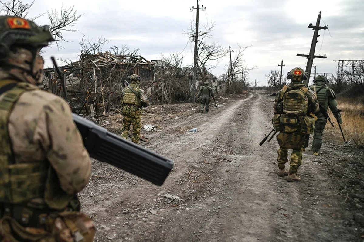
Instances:
[[[0,61],[6,61],[13,45],[43,48],[55,41],[48,25],[14,16],[0,16]]]

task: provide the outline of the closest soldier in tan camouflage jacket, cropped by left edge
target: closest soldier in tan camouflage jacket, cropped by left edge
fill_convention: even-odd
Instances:
[[[43,81],[39,51],[54,41],[48,26],[0,16],[0,240],[92,241],[77,192],[91,160],[62,98]]]

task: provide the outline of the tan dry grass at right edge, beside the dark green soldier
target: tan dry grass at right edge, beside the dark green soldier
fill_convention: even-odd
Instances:
[[[364,104],[354,98],[340,98],[337,100],[337,106],[341,109],[343,118],[343,128],[345,139],[351,140],[356,145],[364,145]],[[329,112],[331,121],[334,123],[333,128],[329,123],[326,124],[326,135],[337,142],[343,142],[339,125],[333,114]]]

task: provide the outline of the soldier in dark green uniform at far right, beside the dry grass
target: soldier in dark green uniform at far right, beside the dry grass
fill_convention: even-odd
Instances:
[[[313,80],[313,83],[314,85],[310,86],[309,88],[315,93],[315,96],[317,97],[318,103],[320,103],[321,107],[320,112],[317,114],[318,120],[315,123],[311,151],[313,152],[313,155],[318,155],[322,145],[322,134],[327,122],[327,118],[321,112],[321,109],[327,112],[329,107],[340,124],[343,123],[343,120],[341,119],[340,110],[337,109],[335,93],[327,86],[329,84],[327,77],[324,75],[318,75]]]

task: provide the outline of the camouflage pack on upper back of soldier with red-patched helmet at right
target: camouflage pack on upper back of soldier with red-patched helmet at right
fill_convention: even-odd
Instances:
[[[306,115],[308,111],[308,100],[306,100],[307,87],[292,89],[292,87],[283,87],[283,112],[293,115]]]

